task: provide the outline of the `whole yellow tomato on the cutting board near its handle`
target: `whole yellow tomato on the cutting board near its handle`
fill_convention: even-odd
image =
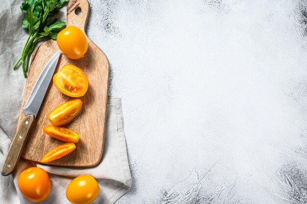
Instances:
[[[71,59],[80,59],[87,51],[85,34],[76,26],[68,26],[57,34],[57,46]]]

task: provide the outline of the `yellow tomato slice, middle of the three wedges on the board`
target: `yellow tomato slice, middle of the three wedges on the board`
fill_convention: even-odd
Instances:
[[[52,138],[62,142],[77,143],[79,141],[79,134],[68,128],[58,126],[46,126],[43,131]]]

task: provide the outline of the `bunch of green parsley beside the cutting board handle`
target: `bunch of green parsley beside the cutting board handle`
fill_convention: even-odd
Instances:
[[[26,71],[30,56],[39,40],[43,37],[56,40],[57,34],[65,27],[65,22],[57,19],[51,20],[50,17],[58,13],[67,2],[68,0],[26,0],[22,3],[20,8],[25,11],[22,27],[28,31],[29,36],[22,55],[13,69],[21,61],[24,76],[27,77]]]

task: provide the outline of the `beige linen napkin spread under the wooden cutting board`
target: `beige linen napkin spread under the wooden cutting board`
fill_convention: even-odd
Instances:
[[[22,71],[12,70],[26,41],[22,29],[23,16],[19,6],[22,0],[3,0],[0,4],[0,165],[4,160],[16,125],[24,94],[26,79]],[[66,16],[65,9],[60,16]],[[0,203],[28,204],[21,194],[17,178],[21,171],[35,166],[21,159],[16,171],[7,177],[0,176]],[[91,175],[99,183],[100,193],[94,203],[112,204],[131,186],[126,141],[124,134],[121,100],[109,98],[105,143],[101,162],[91,168],[66,168],[50,165],[37,166],[45,169],[51,178],[51,192],[44,204],[66,204],[65,191],[69,182],[80,175]]]

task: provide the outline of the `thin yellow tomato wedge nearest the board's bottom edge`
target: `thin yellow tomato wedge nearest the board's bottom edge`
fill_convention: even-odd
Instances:
[[[63,156],[72,153],[75,149],[76,145],[74,143],[66,143],[64,145],[60,145],[46,153],[41,159],[41,162],[47,163],[62,158]]]

